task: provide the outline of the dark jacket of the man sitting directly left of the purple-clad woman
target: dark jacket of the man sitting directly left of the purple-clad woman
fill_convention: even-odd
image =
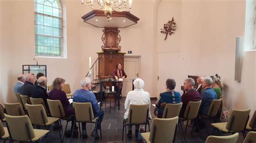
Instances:
[[[31,97],[32,98],[43,98],[44,104],[46,105],[46,107],[48,107],[47,99],[49,98],[49,96],[46,92],[46,89],[44,89],[43,87],[36,85],[33,88]]]

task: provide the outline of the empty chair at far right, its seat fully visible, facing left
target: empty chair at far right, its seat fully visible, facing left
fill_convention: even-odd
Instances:
[[[221,134],[242,132],[245,138],[245,127],[249,119],[250,111],[251,110],[233,110],[227,122],[212,123],[211,125],[214,129],[217,128]]]

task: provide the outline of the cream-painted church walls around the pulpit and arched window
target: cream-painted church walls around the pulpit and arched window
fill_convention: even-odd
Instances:
[[[101,51],[103,28],[83,23],[80,17],[90,9],[80,5],[80,1],[65,0],[64,6],[68,58],[37,59],[48,66],[48,84],[55,77],[63,77],[75,91],[88,71],[89,56],[95,61],[96,52]],[[141,77],[152,97],[157,96],[157,66],[166,66],[157,65],[158,53],[178,51],[185,60],[176,59],[180,62],[176,69],[180,75],[174,78],[218,73],[226,84],[225,106],[255,110],[256,52],[242,52],[241,82],[234,81],[235,37],[244,37],[245,1],[135,0],[132,6],[131,13],[140,20],[136,25],[120,28],[120,45],[122,52],[141,56]],[[33,0],[0,0],[0,8],[0,103],[15,102],[12,88],[16,76],[22,65],[35,63]],[[172,17],[178,29],[164,41],[160,28]],[[179,80],[177,89],[182,83]]]

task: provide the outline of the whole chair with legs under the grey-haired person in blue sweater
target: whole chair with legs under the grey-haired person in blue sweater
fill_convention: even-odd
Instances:
[[[95,124],[95,133],[97,130],[97,124],[98,124],[98,117],[94,117],[93,115],[93,110],[92,110],[92,105],[91,103],[78,103],[78,102],[73,102],[73,108],[74,108],[74,115],[76,121],[74,122],[73,128],[72,128],[72,133],[75,128],[76,122],[78,122],[79,125],[79,133],[81,137],[81,131],[80,131],[80,123],[93,123]],[[95,136],[93,142],[95,142]],[[100,138],[102,138],[102,129],[100,128]],[[72,139],[72,137],[71,137]]]

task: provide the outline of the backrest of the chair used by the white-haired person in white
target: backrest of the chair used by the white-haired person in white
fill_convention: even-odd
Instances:
[[[149,104],[130,105],[128,122],[130,124],[146,124],[149,119]]]

